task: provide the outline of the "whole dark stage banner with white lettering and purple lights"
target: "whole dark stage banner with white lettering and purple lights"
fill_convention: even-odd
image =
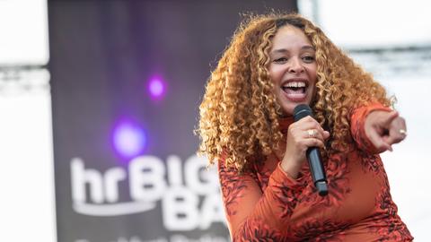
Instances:
[[[58,241],[227,241],[193,134],[240,13],[295,1],[48,1]]]

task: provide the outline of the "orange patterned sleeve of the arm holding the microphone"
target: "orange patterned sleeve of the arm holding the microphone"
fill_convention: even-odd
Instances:
[[[269,176],[264,191],[255,174],[240,174],[237,169],[226,167],[224,160],[218,162],[218,174],[233,241],[254,241],[256,238],[282,241],[281,229],[286,228],[303,185],[289,177],[279,164]]]

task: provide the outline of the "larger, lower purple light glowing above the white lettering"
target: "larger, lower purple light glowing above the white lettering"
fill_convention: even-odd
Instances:
[[[144,130],[138,125],[122,123],[114,129],[114,148],[120,155],[131,158],[145,149],[146,137]]]

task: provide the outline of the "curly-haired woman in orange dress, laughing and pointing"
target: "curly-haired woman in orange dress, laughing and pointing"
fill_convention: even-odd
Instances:
[[[298,104],[314,118],[293,120]],[[200,105],[233,241],[409,241],[378,153],[406,136],[383,87],[297,14],[252,16]],[[319,147],[329,194],[305,157]]]

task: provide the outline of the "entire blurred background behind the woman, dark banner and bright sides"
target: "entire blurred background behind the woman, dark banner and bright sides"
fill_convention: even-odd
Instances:
[[[4,241],[228,241],[193,129],[241,13],[299,12],[374,73],[409,136],[383,153],[428,241],[431,4],[420,0],[0,0]],[[428,121],[427,121],[428,120]]]

